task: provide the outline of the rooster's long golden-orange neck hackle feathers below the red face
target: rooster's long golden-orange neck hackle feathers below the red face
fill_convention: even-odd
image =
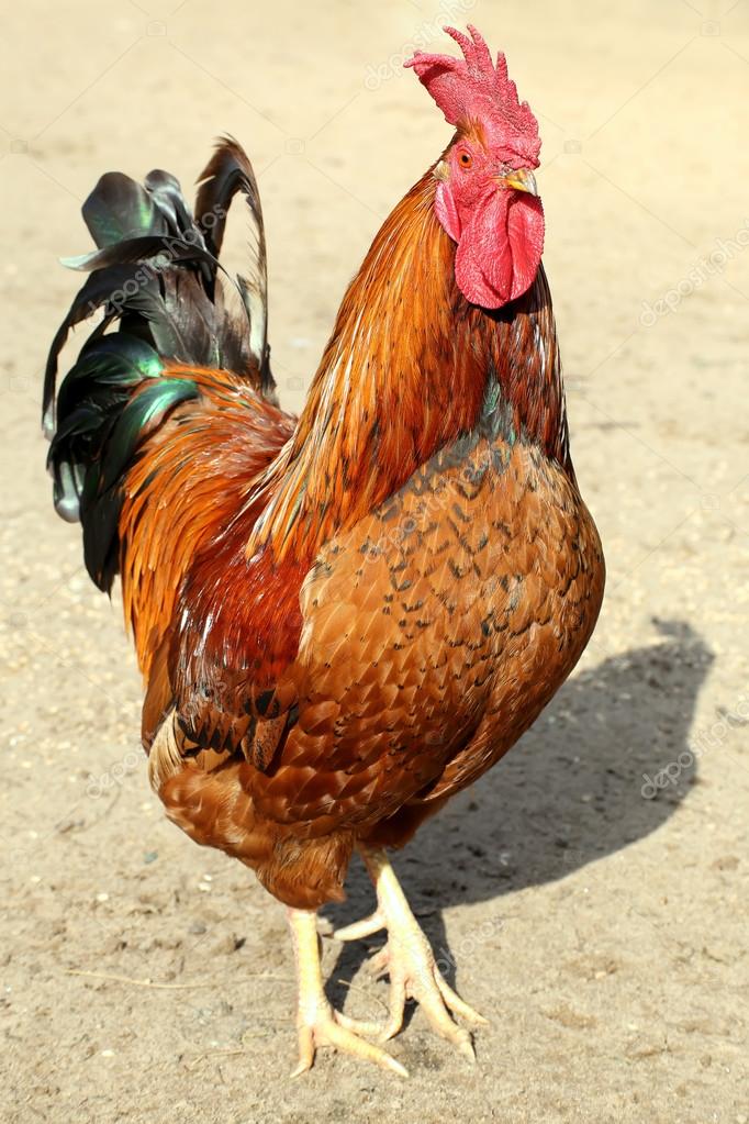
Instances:
[[[551,301],[542,268],[496,311],[455,282],[455,244],[427,173],[386,219],[341,302],[250,549],[314,556],[438,450],[481,427],[499,388],[512,439],[572,473]],[[506,435],[505,435],[506,436]]]

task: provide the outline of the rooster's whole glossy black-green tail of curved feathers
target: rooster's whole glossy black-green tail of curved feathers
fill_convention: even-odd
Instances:
[[[250,217],[250,269],[248,278],[234,280],[218,259],[237,192]],[[232,371],[275,400],[259,194],[247,156],[230,138],[219,142],[200,179],[197,215],[195,220],[168,172],[150,172],[143,185],[110,172],[83,205],[97,250],[65,262],[90,277],[47,360],[48,466],[55,507],[63,518],[83,524],[85,563],[101,589],[110,588],[118,569],[127,466],[144,437],[198,395],[190,379],[170,378],[170,363]],[[229,311],[230,291],[238,316]],[[57,391],[58,356],[68,334],[97,312],[102,318]]]

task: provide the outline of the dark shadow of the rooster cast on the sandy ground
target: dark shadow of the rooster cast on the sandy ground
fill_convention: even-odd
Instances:
[[[688,624],[654,624],[655,644],[609,656],[569,680],[497,767],[395,853],[411,907],[451,986],[462,953],[450,949],[442,909],[494,903],[490,918],[477,922],[475,949],[486,925],[501,926],[505,896],[643,839],[697,782],[689,735],[714,656]],[[342,905],[323,910],[335,926],[374,908],[358,861],[346,890]],[[328,988],[336,1006],[383,939],[338,946]]]

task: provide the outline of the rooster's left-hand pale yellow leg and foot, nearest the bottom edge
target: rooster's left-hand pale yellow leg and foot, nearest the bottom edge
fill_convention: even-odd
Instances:
[[[296,1030],[299,1033],[299,1066],[291,1075],[300,1077],[310,1069],[318,1046],[334,1046],[345,1053],[373,1061],[401,1077],[408,1071],[380,1046],[365,1042],[359,1034],[376,1033],[380,1027],[371,1023],[358,1023],[338,1010],[334,1010],[322,989],[320,967],[320,941],[314,913],[307,909],[289,909],[289,926],[296,959],[299,984],[299,1006]]]

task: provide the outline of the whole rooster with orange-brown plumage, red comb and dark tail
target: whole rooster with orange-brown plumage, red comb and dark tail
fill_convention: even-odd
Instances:
[[[299,419],[266,339],[257,182],[223,139],[194,212],[110,173],[90,275],[49,355],[57,511],[95,584],[120,577],[166,815],[287,907],[301,1073],[382,1046],[408,998],[468,1058],[485,1022],[447,984],[387,856],[518,741],[583,652],[604,564],[569,455],[541,265],[538,125],[475,28],[407,64],[454,136],[376,235]],[[219,264],[244,197],[248,277]],[[56,390],[70,329],[103,315]],[[353,852],[376,908],[385,1024],[328,1001],[316,912]],[[463,1021],[463,1022],[459,1022]],[[371,1041],[378,1037],[377,1041]]]

